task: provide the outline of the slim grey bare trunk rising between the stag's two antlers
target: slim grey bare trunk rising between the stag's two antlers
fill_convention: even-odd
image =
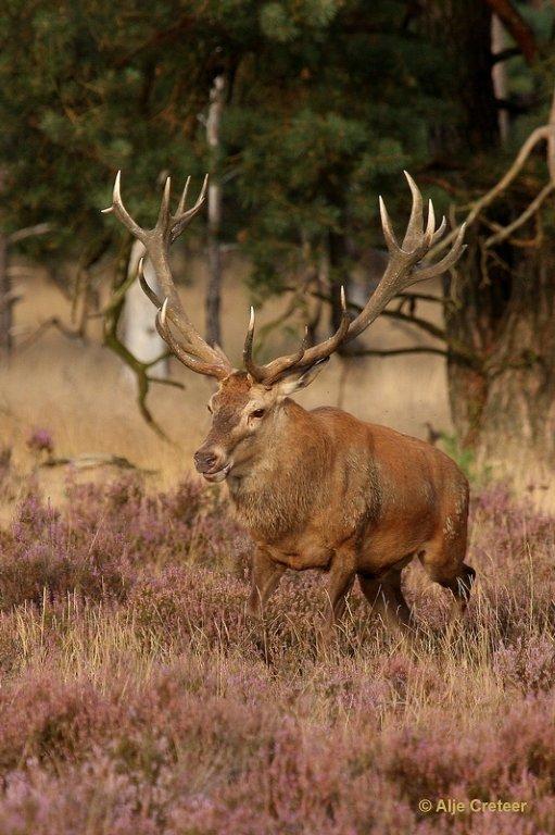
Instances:
[[[217,75],[210,94],[206,140],[211,154],[211,178],[209,184],[209,286],[206,289],[206,341],[222,345],[219,309],[222,303],[222,247],[219,226],[222,223],[222,183],[218,176],[219,123],[224,110],[225,78]]]

